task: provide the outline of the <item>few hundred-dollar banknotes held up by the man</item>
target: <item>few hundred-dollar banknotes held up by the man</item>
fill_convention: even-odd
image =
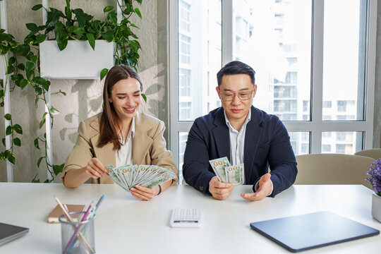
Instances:
[[[209,163],[219,181],[233,183],[234,186],[243,184],[243,164],[231,166],[227,157],[211,159]]]

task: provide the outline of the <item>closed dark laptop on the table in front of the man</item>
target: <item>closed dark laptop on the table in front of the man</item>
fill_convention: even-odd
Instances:
[[[250,223],[251,229],[293,253],[380,234],[332,212],[314,212]]]

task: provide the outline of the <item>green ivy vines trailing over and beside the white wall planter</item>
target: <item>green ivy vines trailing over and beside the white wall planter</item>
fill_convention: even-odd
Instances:
[[[11,75],[11,80],[16,84],[16,86],[23,89],[27,85],[30,85],[35,90],[35,104],[37,106],[38,102],[44,102],[47,106],[48,111],[44,112],[42,119],[40,120],[40,129],[45,124],[45,117],[49,114],[52,119],[52,128],[54,114],[58,114],[59,110],[50,104],[47,104],[46,95],[51,85],[50,81],[44,79],[40,76],[40,43],[45,40],[56,40],[57,46],[60,50],[64,50],[68,44],[68,40],[80,40],[87,41],[92,49],[95,49],[96,40],[107,40],[107,42],[115,42],[116,50],[114,52],[114,63],[115,64],[126,64],[132,66],[136,71],[138,68],[138,51],[141,49],[140,43],[138,42],[138,37],[135,35],[132,28],[138,28],[134,23],[131,23],[131,16],[134,14],[142,18],[141,13],[138,8],[133,7],[132,0],[123,0],[123,4],[119,5],[122,10],[122,19],[118,23],[116,18],[116,10],[114,6],[106,6],[103,9],[104,20],[95,20],[93,16],[85,13],[80,8],[71,8],[70,0],[66,0],[66,6],[64,11],[59,11],[56,8],[45,8],[47,11],[47,22],[44,25],[37,25],[35,23],[27,23],[26,27],[30,30],[30,33],[25,37],[23,44],[18,44],[13,40],[11,35],[5,35],[1,38],[1,45],[8,43],[8,51],[17,54],[18,56],[23,56],[26,59],[25,64],[17,63],[17,58],[13,56],[9,59],[8,63],[8,73],[13,73]],[[140,6],[142,0],[135,0],[135,2]],[[119,4],[119,2],[118,2]],[[40,10],[44,8],[42,4],[37,4],[32,7],[33,11]],[[13,40],[9,42],[9,40]],[[5,46],[4,46],[5,49]],[[1,53],[3,54],[3,53]],[[101,80],[107,75],[108,70],[103,69],[99,73]],[[4,90],[2,90],[2,100],[4,104]],[[52,95],[60,94],[66,95],[65,92],[59,90]],[[1,95],[1,90],[0,90]],[[142,94],[145,102],[147,97]],[[1,103],[0,102],[0,103]],[[11,115],[7,115],[6,119],[11,119]],[[12,135],[14,132],[22,134],[22,129],[19,125],[12,125],[7,128],[7,135]],[[8,134],[9,133],[9,134]],[[15,141],[16,140],[16,141]],[[18,138],[13,138],[14,145],[20,145]],[[63,170],[63,164],[50,164],[47,159],[47,138],[46,133],[35,138],[34,145],[40,150],[40,144],[44,145],[44,155],[42,155],[37,160],[37,166],[40,167],[42,162],[44,162],[51,179],[47,179],[44,182],[54,181],[55,176],[58,176]],[[15,157],[13,155],[13,146],[11,151],[2,152],[0,154],[0,159],[8,159],[15,162]],[[51,170],[52,168],[53,170]],[[32,182],[40,182],[38,174],[32,179]]]

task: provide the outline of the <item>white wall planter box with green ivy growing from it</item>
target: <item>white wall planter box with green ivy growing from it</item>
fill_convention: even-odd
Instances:
[[[136,2],[140,5],[141,0]],[[118,23],[114,6],[103,9],[104,20],[80,8],[72,9],[66,0],[65,11],[56,8],[45,9],[47,22],[44,25],[28,23],[30,34],[25,38],[29,44],[40,44],[40,75],[46,78],[101,78],[108,68],[124,63],[136,68],[138,65],[138,37],[131,28],[138,28],[129,18],[138,8],[133,8],[131,0],[123,0]],[[33,6],[37,11],[41,4]],[[51,36],[49,36],[51,35]],[[52,37],[52,38],[50,38]],[[64,52],[61,52],[63,51]]]

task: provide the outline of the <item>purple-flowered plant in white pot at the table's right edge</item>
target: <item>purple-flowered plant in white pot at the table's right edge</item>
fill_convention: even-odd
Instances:
[[[367,174],[366,180],[370,182],[374,191],[372,195],[372,216],[381,222],[381,158],[372,163]]]

